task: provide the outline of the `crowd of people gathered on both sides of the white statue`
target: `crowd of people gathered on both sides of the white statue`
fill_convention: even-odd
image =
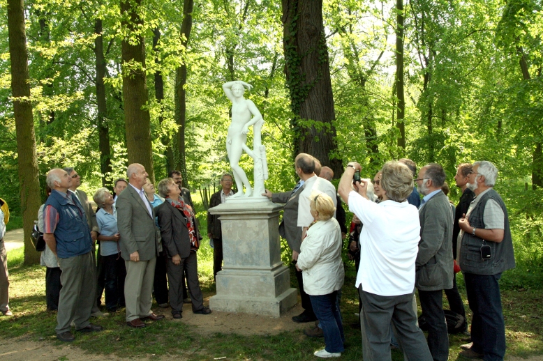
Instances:
[[[384,164],[373,181],[353,181],[362,167],[350,162],[337,192],[330,183],[332,169],[321,167],[311,155],[297,155],[295,171],[299,182],[292,191],[266,190],[263,195],[284,204],[278,231],[292,251],[304,309],[292,321],[315,322],[304,332],[324,337],[326,346],[316,356],[338,357],[344,351],[341,251],[349,232],[343,200],[354,213],[350,233],[355,236],[348,249],[357,261],[364,360],[390,359],[394,340],[408,359],[447,360],[443,291],[451,310],[466,317],[455,267],[463,272],[473,312],[473,342],[461,346],[461,355],[503,360],[505,325],[498,280],[514,268],[514,252],[507,208],[493,190],[498,176],[494,164],[459,164],[454,179],[462,195],[456,207],[443,191],[446,176],[440,164],[426,164],[417,174],[416,164],[402,159]],[[179,172],[158,182],[158,194],[147,176],[141,164],[130,164],[127,180],[115,182],[114,194],[106,188],[96,191],[95,214],[87,194],[77,190],[80,176],[75,169],[48,172],[49,197],[40,208],[38,224],[47,243],[42,254],[47,308],[58,310],[56,330],[62,341],[75,338],[71,326],[79,332],[102,330],[90,323],[91,315],[101,315],[101,281],[107,310],[126,307],[126,323],[133,328],[145,327],[144,320],[164,318],[151,311],[152,293],[162,307],[168,307],[169,300],[173,318],[181,318],[184,302],[191,302],[196,314],[211,313],[203,305],[198,282],[196,252],[202,236],[190,192],[181,187]],[[224,174],[209,206],[233,194],[232,176]],[[3,226],[3,213],[0,218]],[[208,213],[207,226],[216,275],[223,258],[221,222]],[[1,238],[4,229],[0,228]],[[427,339],[417,323],[416,290]],[[0,306],[8,314],[7,300]]]

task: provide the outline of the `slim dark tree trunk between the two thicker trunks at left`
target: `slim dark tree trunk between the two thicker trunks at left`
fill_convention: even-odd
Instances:
[[[96,102],[98,103],[98,148],[100,149],[100,171],[102,173],[102,187],[107,186],[106,176],[111,175],[111,150],[110,150],[110,128],[107,125],[107,105],[105,102],[105,57],[104,43],[102,37],[102,20],[94,21],[94,54],[96,55]]]

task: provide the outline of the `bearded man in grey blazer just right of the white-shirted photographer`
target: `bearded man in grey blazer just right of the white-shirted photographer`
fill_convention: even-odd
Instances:
[[[415,261],[415,286],[428,323],[428,347],[433,360],[449,358],[449,335],[442,305],[442,290],[452,288],[452,224],[454,216],[441,186],[445,171],[430,163],[419,171],[417,184],[424,198],[419,206],[420,242]]]

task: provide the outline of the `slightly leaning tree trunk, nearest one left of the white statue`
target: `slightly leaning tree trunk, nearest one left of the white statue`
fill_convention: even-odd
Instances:
[[[183,2],[183,22],[181,23],[181,35],[184,35],[183,45],[188,46],[193,27],[193,0]],[[185,124],[186,124],[186,63],[184,62],[175,70],[175,122],[177,123],[176,143],[178,154],[174,155],[174,169],[181,171],[185,186],[188,184],[186,176],[186,150],[185,150]]]

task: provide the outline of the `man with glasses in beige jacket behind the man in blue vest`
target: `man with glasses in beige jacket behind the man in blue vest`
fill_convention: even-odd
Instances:
[[[98,238],[98,233],[100,233],[98,222],[96,222],[96,213],[94,213],[91,202],[89,202],[89,197],[87,197],[87,193],[77,189],[81,185],[81,176],[77,174],[77,171],[75,171],[73,167],[66,167],[64,168],[64,170],[66,171],[66,173],[68,173],[68,176],[72,178],[72,185],[68,188],[68,192],[73,195],[73,198],[77,199],[77,201],[81,203],[81,206],[85,211],[85,216],[87,217],[87,224],[89,225],[89,229],[91,230],[92,245],[94,247],[94,245],[96,244],[96,238]],[[104,316],[103,312],[101,312],[98,308],[98,295],[102,294],[102,292],[98,289],[98,277],[101,272],[98,272],[98,269],[96,268],[96,254],[94,252],[91,253],[92,261],[94,264],[94,288],[96,289],[96,296],[94,297],[94,305],[92,306],[91,316],[101,317]],[[100,252],[98,252],[98,257],[101,258]]]

